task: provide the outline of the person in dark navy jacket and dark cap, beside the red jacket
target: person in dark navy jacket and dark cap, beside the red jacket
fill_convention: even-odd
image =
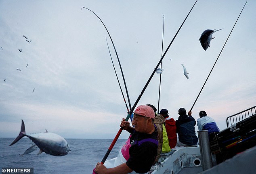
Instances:
[[[195,119],[192,117],[192,112],[189,111],[188,115],[185,108],[178,110],[178,120],[176,120],[176,133],[178,139],[176,146],[197,145],[198,138],[195,135]]]

